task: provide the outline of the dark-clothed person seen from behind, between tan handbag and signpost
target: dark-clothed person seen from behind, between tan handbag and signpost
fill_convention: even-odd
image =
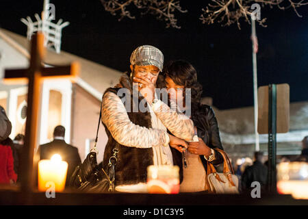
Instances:
[[[258,181],[261,188],[265,188],[268,181],[268,168],[263,164],[263,153],[255,152],[255,162],[252,166],[247,166],[242,175],[242,190],[251,189],[251,183]]]

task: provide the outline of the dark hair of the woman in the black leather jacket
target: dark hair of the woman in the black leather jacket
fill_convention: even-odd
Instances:
[[[196,69],[185,60],[168,62],[163,69],[164,77],[170,77],[177,85],[191,88],[192,114],[198,111],[201,105],[202,85],[197,80]]]

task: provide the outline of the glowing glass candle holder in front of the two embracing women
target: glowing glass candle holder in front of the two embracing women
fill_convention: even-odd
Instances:
[[[152,194],[179,193],[179,166],[148,166],[146,187]]]

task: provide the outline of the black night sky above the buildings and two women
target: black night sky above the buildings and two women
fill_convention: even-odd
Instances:
[[[0,1],[0,27],[26,36],[21,18],[42,11],[43,1]],[[194,5],[191,4],[194,2]],[[62,50],[120,71],[128,70],[129,56],[142,44],[151,44],[164,53],[165,61],[191,62],[203,84],[203,96],[211,96],[219,109],[253,105],[251,26],[203,25],[198,19],[203,1],[181,1],[186,14],[177,14],[181,29],[168,28],[152,15],[136,20],[105,12],[99,0],[53,1],[55,20],[62,18]],[[290,101],[308,101],[308,5],[298,9],[262,8],[268,27],[257,25],[258,86],[289,83]]]

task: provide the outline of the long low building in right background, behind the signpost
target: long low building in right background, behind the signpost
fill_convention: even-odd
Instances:
[[[203,101],[208,105],[212,102],[210,98]],[[224,149],[233,158],[252,157],[255,151],[253,106],[230,110],[213,108]],[[277,155],[300,155],[305,136],[308,136],[308,101],[290,103],[290,129],[287,133],[277,133]],[[266,154],[268,134],[260,134],[259,142],[260,151]]]

